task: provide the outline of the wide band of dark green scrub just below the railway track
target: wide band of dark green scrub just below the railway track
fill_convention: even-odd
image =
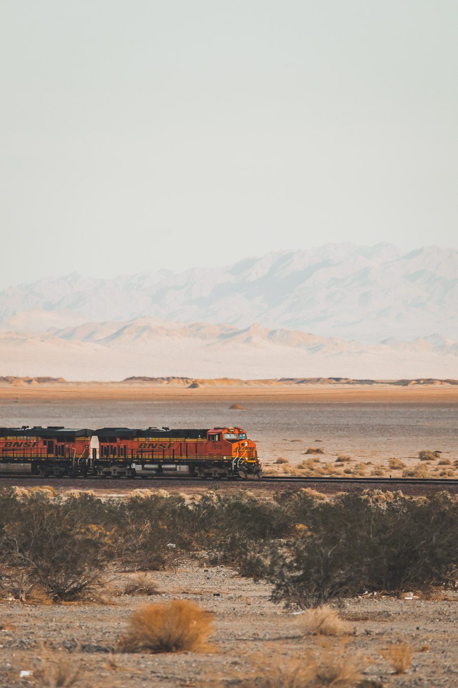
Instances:
[[[147,572],[192,553],[264,579],[274,601],[308,609],[364,590],[452,586],[457,532],[458,500],[446,493],[328,499],[299,490],[266,499],[244,491],[187,499],[144,491],[102,502],[3,489],[0,586],[3,596],[22,601],[74,600],[98,584],[108,564]],[[126,594],[154,592],[148,574],[126,587]]]

